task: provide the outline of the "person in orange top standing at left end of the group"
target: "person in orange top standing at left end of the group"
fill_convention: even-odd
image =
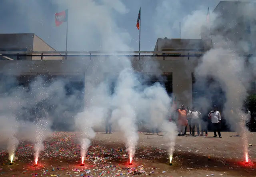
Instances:
[[[187,113],[188,113],[188,110],[185,109],[185,106],[184,105],[181,105],[180,106],[180,109],[178,109],[178,128],[179,128],[179,134],[178,136],[181,135],[182,133],[182,136],[184,136],[184,131],[185,131],[185,127],[188,125],[188,119],[187,119]]]

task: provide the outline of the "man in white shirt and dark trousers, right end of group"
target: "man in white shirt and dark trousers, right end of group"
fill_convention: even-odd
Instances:
[[[216,132],[218,132],[218,135],[220,138],[221,134],[220,134],[220,121],[221,121],[221,117],[220,117],[220,112],[217,111],[217,107],[216,105],[213,106],[213,111],[210,111],[210,113],[208,114],[208,116],[211,118],[212,123],[214,125],[214,137],[217,137]]]

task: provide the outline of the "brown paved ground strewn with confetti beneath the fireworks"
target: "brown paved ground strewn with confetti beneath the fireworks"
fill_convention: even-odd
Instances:
[[[209,132],[209,136],[213,135]],[[45,141],[38,167],[33,167],[33,145],[23,142],[17,150],[19,160],[8,164],[8,155],[1,151],[2,176],[173,176],[173,177],[238,177],[256,176],[256,133],[249,133],[250,164],[244,163],[242,137],[221,138],[178,137],[173,165],[168,165],[168,154],[163,135],[139,133],[138,149],[133,165],[128,165],[124,138],[120,132],[98,133],[88,150],[86,165],[80,166],[79,138],[74,132],[55,132]],[[208,160],[210,155],[211,160]],[[254,165],[255,164],[255,165]]]

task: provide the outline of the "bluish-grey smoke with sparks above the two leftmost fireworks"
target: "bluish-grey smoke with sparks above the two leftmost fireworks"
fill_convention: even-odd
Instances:
[[[0,90],[0,145],[8,150],[12,162],[16,159],[19,141],[30,141],[34,143],[37,162],[44,150],[43,141],[52,135],[52,122],[58,119],[56,115],[62,117],[58,110],[66,105],[60,104],[61,100],[67,99],[72,106],[70,100],[73,99],[68,99],[63,90],[65,80],[46,82],[39,76],[28,87],[23,87],[18,85],[15,77],[11,78],[13,80],[8,82],[2,80],[6,87]]]

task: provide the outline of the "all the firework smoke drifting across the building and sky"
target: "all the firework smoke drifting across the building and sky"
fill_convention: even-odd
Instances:
[[[29,26],[30,31],[44,28],[45,36],[52,34],[49,28],[35,21],[53,18],[54,14],[45,17],[44,8],[41,8],[45,7],[42,6],[42,2],[31,2],[30,7],[33,7],[32,12],[37,18],[26,14],[27,4],[9,1],[26,21],[37,24]],[[116,20],[116,16],[124,17],[130,12],[123,1],[63,0],[52,2],[52,6],[56,12],[69,10],[71,32],[68,36],[68,49],[75,46],[76,50],[80,51],[98,50],[112,53],[135,50],[129,46],[130,41],[134,39],[126,29],[119,27]],[[255,7],[253,4],[251,6]],[[151,30],[155,34],[153,36],[157,38],[178,36],[178,26],[181,22],[182,38],[195,39],[201,37],[202,26],[206,30],[209,30],[210,26],[213,32],[213,49],[206,52],[200,62],[194,61],[198,62],[194,70],[195,85],[206,92],[218,87],[225,92],[223,114],[226,115],[225,118],[230,127],[236,129],[233,117],[228,116],[230,109],[240,109],[243,106],[249,88],[248,83],[255,76],[254,67],[248,67],[247,58],[239,55],[240,52],[250,51],[247,38],[242,38],[238,42],[230,41],[230,38],[236,34],[229,34],[230,38],[227,38],[226,34],[215,34],[214,30],[218,25],[226,22],[218,18],[220,14],[210,12],[211,21],[207,24],[208,6],[198,6],[188,15],[180,11],[181,8],[180,1],[159,1],[156,6],[156,15],[152,18],[154,25]],[[252,15],[253,8],[245,9],[241,9],[241,14],[244,12],[244,19],[255,20],[255,15]],[[137,16],[135,21],[136,18]],[[176,20],[170,22],[172,19]],[[234,28],[235,25],[236,22],[230,22],[226,28]],[[57,28],[53,31],[60,39],[66,35]],[[209,31],[205,33],[210,34]],[[51,36],[47,37],[51,38]],[[65,41],[60,43],[59,48],[64,48]],[[254,64],[254,60],[255,58],[251,58],[250,63]],[[173,153],[176,125],[166,121],[171,114],[172,99],[160,83],[148,85],[153,76],[160,78],[162,74],[156,62],[143,59],[140,61],[142,72],[146,77],[142,77],[142,74],[134,70],[130,58],[123,56],[99,57],[94,60],[79,59],[79,62],[85,68],[82,91],[76,90],[68,94],[66,87],[70,80],[58,77],[50,80],[47,76],[47,79],[43,76],[37,77],[27,88],[17,86],[15,79],[4,82],[6,85],[13,84],[13,87],[7,88],[1,85],[0,142],[2,146],[12,152],[16,149],[18,141],[31,141],[35,144],[35,155],[38,156],[44,149],[43,141],[50,137],[52,130],[76,130],[79,131],[81,138],[81,156],[85,157],[91,140],[96,135],[94,130],[109,121],[115,125],[114,129],[123,133],[127,151],[132,158],[138,143],[138,123],[142,122],[148,129],[165,131],[168,149],[170,154]],[[186,67],[188,66],[187,64]],[[74,71],[77,70],[74,66],[70,66],[72,67]],[[191,73],[186,72],[186,74]],[[207,86],[208,76],[215,80],[210,88]],[[196,99],[196,102],[201,105],[202,113],[207,113],[212,107],[212,102],[208,99],[212,94],[208,92],[207,98],[204,95]]]

